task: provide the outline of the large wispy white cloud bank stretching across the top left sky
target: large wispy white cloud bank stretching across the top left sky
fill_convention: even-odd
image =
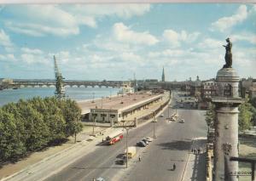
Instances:
[[[80,25],[96,28],[97,20],[103,16],[116,15],[126,19],[142,15],[149,8],[148,4],[19,5],[5,9],[14,18],[4,21],[10,31],[27,36],[66,37],[79,34]]]

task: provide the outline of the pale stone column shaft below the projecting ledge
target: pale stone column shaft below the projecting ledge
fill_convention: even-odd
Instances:
[[[216,103],[216,102],[215,102]],[[237,161],[227,161],[225,157],[238,156],[238,108],[236,105],[216,105],[215,142],[214,142],[214,170],[215,180],[226,180],[225,172],[238,171]],[[238,180],[230,177],[230,180]]]

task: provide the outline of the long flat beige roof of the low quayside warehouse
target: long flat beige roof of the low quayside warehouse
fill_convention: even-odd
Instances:
[[[126,110],[131,107],[142,105],[144,102],[152,101],[153,99],[159,99],[162,94],[152,94],[148,92],[138,92],[114,96],[111,99],[95,99],[78,101],[78,105],[82,110],[82,114],[87,114],[90,109],[108,109],[108,110]],[[123,102],[123,104],[121,104]]]

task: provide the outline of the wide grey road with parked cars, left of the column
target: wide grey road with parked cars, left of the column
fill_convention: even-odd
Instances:
[[[174,111],[170,109],[170,113]],[[92,180],[98,177],[106,180],[181,180],[183,175],[189,177],[190,173],[191,180],[205,180],[205,155],[189,154],[192,147],[205,146],[205,140],[201,139],[207,136],[204,112],[180,109],[177,113],[185,123],[167,122],[168,109],[166,109],[164,117],[158,117],[155,125],[157,139],[154,139],[148,147],[138,149],[137,156],[141,155],[142,161],[137,161],[137,157],[131,159],[128,169],[115,164],[115,161],[119,160],[119,154],[125,150],[124,139],[112,146],[97,144],[94,151],[74,161],[47,180]],[[128,145],[135,145],[143,137],[152,137],[153,125],[154,123],[150,122],[131,129]],[[195,138],[199,139],[193,140]],[[191,158],[195,159],[191,160]],[[194,161],[195,164],[191,164]],[[172,171],[173,163],[177,166],[175,171]]]

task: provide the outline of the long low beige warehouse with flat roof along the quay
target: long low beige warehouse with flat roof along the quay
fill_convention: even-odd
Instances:
[[[116,123],[137,111],[148,108],[148,105],[160,101],[162,94],[150,92],[130,93],[112,98],[102,98],[78,102],[86,122]]]

